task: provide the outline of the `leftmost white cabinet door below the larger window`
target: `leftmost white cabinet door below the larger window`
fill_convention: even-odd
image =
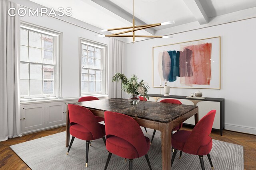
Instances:
[[[44,105],[22,107],[22,131],[44,127]]]

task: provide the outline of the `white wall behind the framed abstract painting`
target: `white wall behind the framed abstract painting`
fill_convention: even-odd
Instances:
[[[221,89],[201,89],[205,97],[225,98],[225,129],[256,134],[256,18],[174,34],[172,39],[150,39],[125,45],[124,74],[136,74],[152,88],[152,47],[221,36]],[[170,94],[188,96],[197,89],[171,88]]]

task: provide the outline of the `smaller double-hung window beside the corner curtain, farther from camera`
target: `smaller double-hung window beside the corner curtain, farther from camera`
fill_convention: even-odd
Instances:
[[[80,95],[106,94],[107,46],[80,38]]]

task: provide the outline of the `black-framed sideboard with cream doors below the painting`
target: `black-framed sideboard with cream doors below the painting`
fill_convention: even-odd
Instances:
[[[216,115],[212,128],[219,129],[220,135],[224,129],[224,99],[223,98],[205,98],[205,99],[191,99],[186,96],[164,96],[158,94],[148,94],[150,96],[149,101],[160,102],[164,98],[173,98],[180,100],[182,104],[198,106],[198,118],[199,120],[204,117],[210,110],[215,109]],[[189,125],[195,125],[194,116],[190,117],[184,123]]]

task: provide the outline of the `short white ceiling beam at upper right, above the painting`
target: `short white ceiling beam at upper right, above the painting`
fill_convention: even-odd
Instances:
[[[204,12],[204,8],[202,7],[201,3],[199,0],[183,0],[196,18],[196,20],[202,24],[208,23],[208,17],[206,13]]]

